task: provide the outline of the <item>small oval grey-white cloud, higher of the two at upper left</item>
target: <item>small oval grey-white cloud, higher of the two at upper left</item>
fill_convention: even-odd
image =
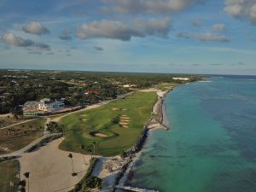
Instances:
[[[49,30],[38,21],[32,21],[26,24],[26,26],[22,27],[22,30],[24,32],[32,33],[35,35],[43,35],[49,33]]]

